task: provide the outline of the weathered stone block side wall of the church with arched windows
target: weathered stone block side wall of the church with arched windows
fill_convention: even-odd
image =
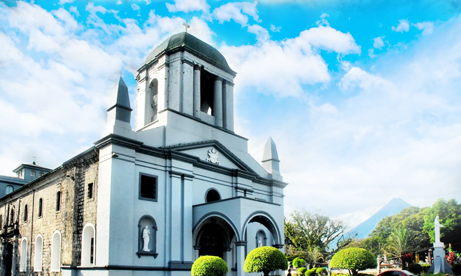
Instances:
[[[60,265],[80,265],[83,226],[96,225],[96,200],[98,179],[97,153],[89,150],[43,177],[38,178],[0,199],[2,216],[0,276],[6,271],[6,244],[13,244],[14,275],[61,275],[51,272],[51,247],[53,233],[61,234]],[[88,184],[93,183],[93,196],[88,198]],[[61,192],[59,210],[57,193]],[[39,202],[42,199],[42,214]],[[24,214],[27,205],[27,216]],[[10,213],[14,208],[14,224]],[[43,236],[42,271],[34,271],[35,239]],[[27,267],[20,271],[21,242],[27,239]]]

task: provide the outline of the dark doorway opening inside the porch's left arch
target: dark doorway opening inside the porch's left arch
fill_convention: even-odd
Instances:
[[[224,229],[215,223],[203,226],[198,244],[199,256],[218,256],[222,259],[224,259],[224,252],[229,248]]]

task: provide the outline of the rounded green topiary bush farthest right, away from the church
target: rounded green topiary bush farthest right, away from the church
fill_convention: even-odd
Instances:
[[[364,248],[350,247],[338,251],[330,262],[331,268],[349,270],[349,274],[357,275],[360,270],[376,267],[376,259]]]

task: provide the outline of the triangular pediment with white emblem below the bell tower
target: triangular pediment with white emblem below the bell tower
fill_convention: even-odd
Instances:
[[[255,173],[253,169],[216,140],[172,145],[164,147],[164,149],[193,155],[210,164]]]

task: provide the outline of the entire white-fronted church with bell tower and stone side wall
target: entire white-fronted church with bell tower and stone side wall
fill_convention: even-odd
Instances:
[[[188,33],[113,88],[102,138],[0,198],[0,276],[189,276],[201,255],[245,275],[255,247],[284,250],[283,182],[234,132],[232,71]],[[278,271],[278,274],[282,274]]]

